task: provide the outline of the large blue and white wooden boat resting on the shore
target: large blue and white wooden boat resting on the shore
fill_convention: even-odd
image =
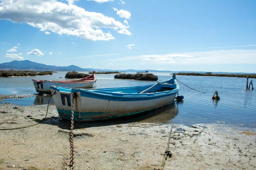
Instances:
[[[179,84],[174,73],[167,81],[143,86],[90,90],[51,86],[50,89],[61,118],[71,120],[74,97],[74,121],[95,121],[134,115],[168,105],[179,92]]]

